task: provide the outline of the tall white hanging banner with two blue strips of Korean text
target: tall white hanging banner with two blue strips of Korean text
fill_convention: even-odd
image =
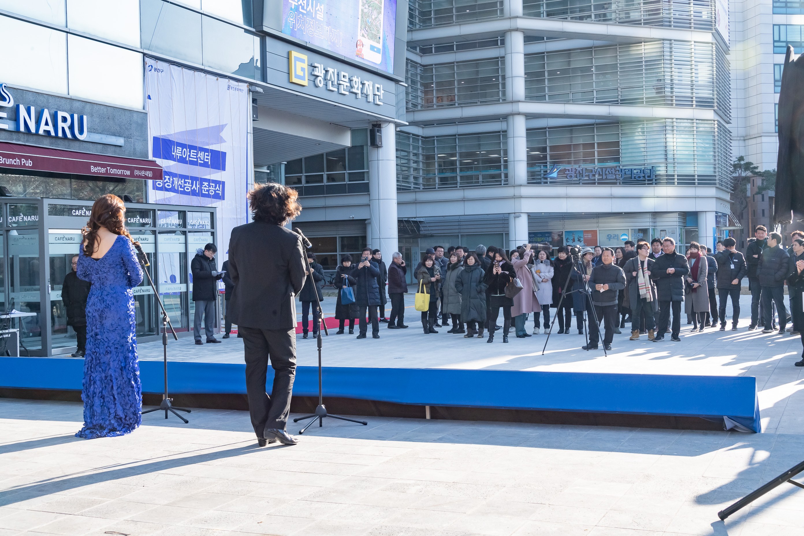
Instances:
[[[248,214],[248,84],[146,58],[146,109],[150,155],[164,169],[149,201],[217,207],[220,266]]]

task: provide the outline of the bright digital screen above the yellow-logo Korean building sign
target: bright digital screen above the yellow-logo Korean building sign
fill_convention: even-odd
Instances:
[[[282,0],[282,33],[394,72],[396,0]]]

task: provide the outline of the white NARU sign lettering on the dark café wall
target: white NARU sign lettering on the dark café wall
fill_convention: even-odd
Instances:
[[[8,92],[6,84],[0,84],[0,107],[14,106],[14,96]],[[0,119],[5,119],[6,113],[0,112]],[[0,123],[0,129],[8,130],[9,125]],[[33,106],[17,104],[17,125],[19,132],[40,134],[43,136],[64,137],[68,139],[84,140],[87,137],[87,117],[77,113],[66,113],[59,110],[51,111],[42,108],[39,113]]]

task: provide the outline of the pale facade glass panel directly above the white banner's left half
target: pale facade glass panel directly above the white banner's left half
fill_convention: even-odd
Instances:
[[[201,14],[162,0],[141,0],[140,31],[142,48],[201,63]]]

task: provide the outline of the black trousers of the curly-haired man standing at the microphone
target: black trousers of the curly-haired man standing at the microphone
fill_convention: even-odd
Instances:
[[[257,437],[265,428],[284,430],[288,423],[290,395],[296,377],[296,328],[258,329],[238,326],[243,334],[246,361],[248,411]],[[271,395],[265,392],[268,362],[273,367]]]

